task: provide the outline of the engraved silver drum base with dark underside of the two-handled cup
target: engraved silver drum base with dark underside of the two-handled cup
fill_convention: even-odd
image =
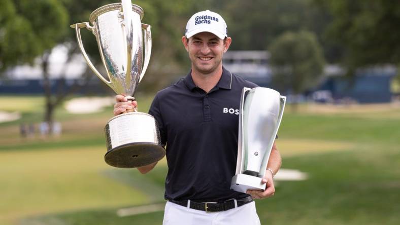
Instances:
[[[135,168],[155,163],[165,156],[154,118],[145,113],[113,117],[105,127],[107,164]]]

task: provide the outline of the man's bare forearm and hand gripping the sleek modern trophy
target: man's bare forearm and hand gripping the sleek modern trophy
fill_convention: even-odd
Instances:
[[[278,148],[276,147],[276,143],[274,142],[271,150],[271,155],[270,159],[268,161],[268,165],[266,168],[269,168],[272,170],[267,169],[265,171],[265,175],[262,178],[262,183],[266,183],[266,189],[265,191],[247,191],[247,194],[251,195],[254,199],[264,199],[271,197],[275,194],[275,186],[274,186],[274,179],[273,179],[273,174],[274,175],[278,172],[278,170],[281,168],[282,165],[282,158],[281,154],[278,151]]]

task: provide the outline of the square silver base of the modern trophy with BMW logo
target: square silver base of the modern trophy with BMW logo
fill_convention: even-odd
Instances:
[[[247,190],[264,191],[266,183],[261,182],[262,178],[247,174],[236,174],[230,182],[230,190],[246,193]]]

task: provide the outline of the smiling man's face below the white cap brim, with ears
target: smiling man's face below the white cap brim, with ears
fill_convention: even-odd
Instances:
[[[183,36],[182,42],[189,53],[192,69],[207,74],[221,66],[222,55],[228,50],[231,39],[227,37],[224,41],[213,33],[201,32],[189,40]]]

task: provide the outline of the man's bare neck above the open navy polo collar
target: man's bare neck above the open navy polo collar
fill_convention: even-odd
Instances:
[[[208,93],[218,84],[222,71],[222,65],[211,73],[201,73],[192,69],[193,83]]]

